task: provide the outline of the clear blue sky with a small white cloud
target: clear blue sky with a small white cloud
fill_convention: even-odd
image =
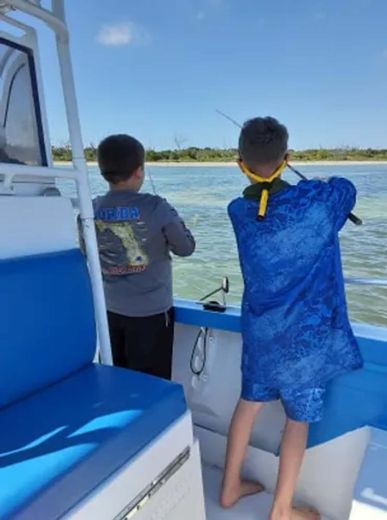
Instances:
[[[235,119],[274,115],[293,148],[387,147],[386,0],[66,2],[85,143],[234,146]],[[100,6],[99,8],[97,6]],[[67,139],[44,38],[51,136]]]

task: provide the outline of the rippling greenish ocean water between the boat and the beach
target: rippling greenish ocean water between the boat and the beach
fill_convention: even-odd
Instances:
[[[308,177],[342,175],[358,190],[355,213],[363,226],[347,222],[341,233],[346,276],[387,279],[387,165],[306,165],[299,169]],[[246,185],[234,166],[153,166],[148,167],[159,195],[176,207],[195,235],[197,249],[190,258],[174,259],[174,293],[199,299],[230,279],[229,303],[238,304],[242,295],[235,239],[227,217],[228,202]],[[93,196],[104,193],[105,181],[97,168],[90,168]],[[298,178],[287,173],[285,179]],[[70,185],[62,188],[73,195]],[[149,177],[143,191],[152,192]],[[353,321],[387,326],[387,287],[347,286],[350,317]]]

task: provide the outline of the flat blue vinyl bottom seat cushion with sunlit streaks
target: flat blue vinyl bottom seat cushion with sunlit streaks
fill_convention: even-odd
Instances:
[[[0,410],[0,518],[59,518],[186,411],[180,385],[90,365]]]

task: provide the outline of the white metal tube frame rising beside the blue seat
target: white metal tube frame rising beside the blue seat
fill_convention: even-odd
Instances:
[[[83,141],[81,135],[78,105],[75,93],[74,77],[69,49],[69,35],[65,21],[63,0],[51,0],[51,10],[45,9],[37,0],[3,0],[0,1],[0,20],[16,26],[25,32],[24,37],[16,38],[19,44],[29,47],[38,58],[36,34],[32,26],[21,23],[14,19],[12,9],[30,15],[34,19],[45,22],[55,33],[57,56],[60,69],[61,86],[67,116],[67,127],[69,131],[70,144],[72,148],[73,168],[53,168],[50,166],[24,166],[19,164],[1,163],[1,175],[4,177],[2,188],[3,194],[12,194],[13,181],[17,178],[30,177],[40,178],[65,178],[75,181],[77,196],[79,200],[80,219],[82,222],[83,237],[87,251],[88,265],[91,284],[93,288],[96,321],[98,328],[98,343],[103,363],[112,364],[110,339],[108,333],[107,314],[104,299],[101,267],[99,263],[98,248],[94,228],[94,212],[91,202],[91,193],[88,184],[88,169],[83,152]],[[6,39],[15,41],[12,35],[3,30],[0,35]],[[36,72],[40,76],[39,61],[35,62]],[[40,83],[40,81],[39,81]],[[43,100],[42,100],[43,101]],[[47,126],[47,125],[45,125]],[[48,147],[50,140],[47,128],[45,128],[45,144]]]

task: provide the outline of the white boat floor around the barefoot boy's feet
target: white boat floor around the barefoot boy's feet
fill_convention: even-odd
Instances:
[[[273,496],[259,493],[245,497],[231,509],[222,509],[219,505],[219,489],[222,472],[219,468],[203,466],[203,483],[206,501],[207,520],[267,520]],[[321,518],[321,520],[328,520]]]

